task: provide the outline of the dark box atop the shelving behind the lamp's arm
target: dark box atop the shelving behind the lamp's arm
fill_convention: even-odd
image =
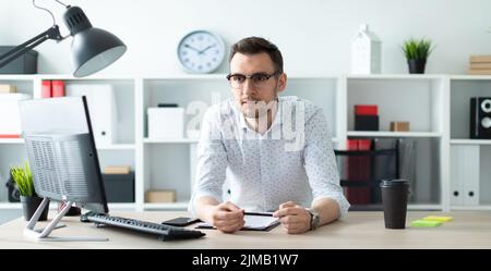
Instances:
[[[15,48],[14,46],[0,46],[0,56]],[[0,74],[36,74],[37,52],[28,50],[21,57],[12,60],[9,64],[0,67]]]

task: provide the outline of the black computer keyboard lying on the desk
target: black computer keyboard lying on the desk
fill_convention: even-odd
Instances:
[[[158,236],[158,239],[190,239],[199,238],[205,234],[195,230],[187,230],[178,226],[157,224],[147,221],[135,219],[127,219],[120,217],[111,217],[100,213],[86,213],[81,217],[83,222],[95,222],[96,224],[121,227],[130,231],[135,231],[145,234]]]

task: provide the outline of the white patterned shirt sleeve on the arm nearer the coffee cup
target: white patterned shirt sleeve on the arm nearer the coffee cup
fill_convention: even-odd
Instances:
[[[306,122],[304,168],[313,193],[313,201],[332,198],[339,205],[342,218],[350,207],[339,185],[336,159],[327,121],[322,109],[316,108]]]

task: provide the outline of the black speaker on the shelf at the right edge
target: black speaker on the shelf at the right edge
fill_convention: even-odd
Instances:
[[[470,98],[469,137],[491,139],[491,97]]]

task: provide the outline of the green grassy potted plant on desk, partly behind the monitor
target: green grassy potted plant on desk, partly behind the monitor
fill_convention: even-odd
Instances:
[[[28,221],[41,204],[43,198],[38,197],[36,195],[36,192],[34,190],[33,174],[27,162],[24,164],[24,167],[12,167],[10,170],[10,174],[12,175],[13,181],[17,185],[19,193],[21,194],[24,219]],[[39,217],[39,221],[48,219],[48,211],[49,205],[46,206],[45,210]]]

